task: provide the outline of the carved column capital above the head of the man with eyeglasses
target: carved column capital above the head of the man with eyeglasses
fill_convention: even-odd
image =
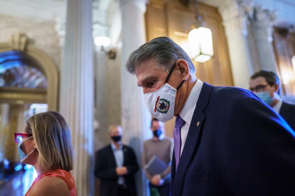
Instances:
[[[277,13],[275,11],[271,12],[262,6],[255,6],[252,19],[256,31],[255,36],[258,39],[267,39],[269,42],[272,42],[273,22],[276,18]]]

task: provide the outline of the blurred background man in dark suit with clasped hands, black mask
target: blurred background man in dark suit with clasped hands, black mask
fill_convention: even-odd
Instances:
[[[111,143],[96,153],[94,174],[101,180],[100,196],[136,196],[136,156],[132,148],[121,143],[121,126],[110,126],[109,135]]]

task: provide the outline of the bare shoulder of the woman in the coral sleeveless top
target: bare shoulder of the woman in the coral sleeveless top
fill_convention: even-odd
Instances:
[[[70,195],[70,191],[67,184],[62,179],[45,176],[39,179],[30,190],[29,196],[37,195],[67,196]]]

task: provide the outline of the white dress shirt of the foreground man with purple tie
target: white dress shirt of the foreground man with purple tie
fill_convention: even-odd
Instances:
[[[191,119],[193,117],[202,87],[203,87],[203,82],[200,80],[197,80],[193,89],[191,89],[190,95],[187,97],[187,101],[185,102],[183,109],[179,113],[179,116],[186,122],[184,126],[181,127],[181,130],[180,130],[180,135],[181,135],[180,156],[182,154],[185,141],[187,139],[187,133],[190,128]]]

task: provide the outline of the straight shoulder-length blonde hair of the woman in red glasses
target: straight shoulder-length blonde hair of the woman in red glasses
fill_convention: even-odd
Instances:
[[[73,146],[69,126],[55,111],[31,116],[27,120],[27,134],[33,139],[39,153],[38,164],[42,172],[56,168],[73,169]]]

